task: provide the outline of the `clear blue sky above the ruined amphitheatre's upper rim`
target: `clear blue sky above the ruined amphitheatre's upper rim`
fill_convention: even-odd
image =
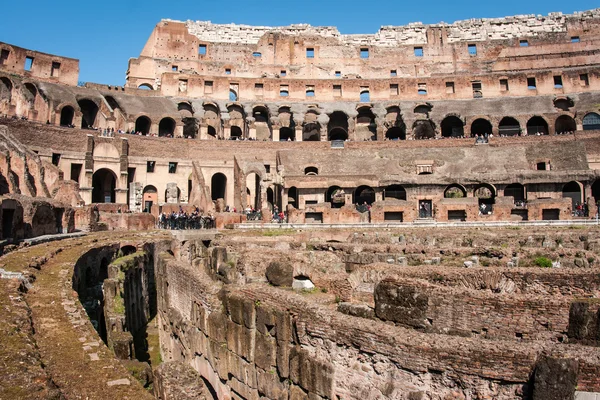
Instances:
[[[598,0],[5,0],[0,41],[80,60],[80,81],[122,85],[162,18],[250,25],[337,26],[342,33],[374,33],[382,25],[516,14],[584,11]]]

